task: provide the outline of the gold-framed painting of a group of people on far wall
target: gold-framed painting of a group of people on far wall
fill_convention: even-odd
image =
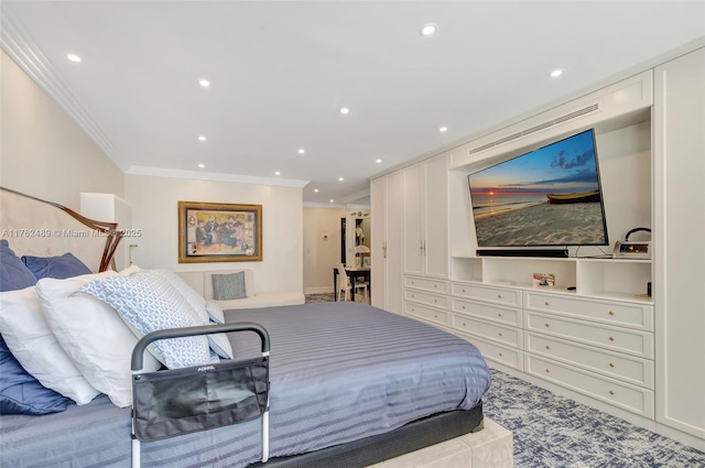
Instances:
[[[178,263],[262,261],[262,205],[178,202]]]

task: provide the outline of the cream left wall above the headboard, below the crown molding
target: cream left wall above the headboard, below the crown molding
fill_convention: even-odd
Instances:
[[[76,211],[80,192],[123,195],[122,171],[2,51],[0,106],[0,185]]]

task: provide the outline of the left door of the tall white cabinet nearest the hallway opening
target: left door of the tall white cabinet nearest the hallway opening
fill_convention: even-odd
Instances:
[[[371,304],[387,309],[387,177],[380,177],[370,183],[370,217],[371,226]]]

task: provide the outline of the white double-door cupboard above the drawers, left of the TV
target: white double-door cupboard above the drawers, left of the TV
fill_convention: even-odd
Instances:
[[[402,170],[404,273],[448,275],[448,167],[446,155]]]

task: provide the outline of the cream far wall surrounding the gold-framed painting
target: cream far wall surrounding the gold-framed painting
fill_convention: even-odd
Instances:
[[[141,268],[203,271],[247,268],[254,290],[303,291],[303,191],[294,187],[126,175],[124,198],[132,205],[139,238],[132,262]],[[261,262],[178,263],[178,202],[262,205]]]

